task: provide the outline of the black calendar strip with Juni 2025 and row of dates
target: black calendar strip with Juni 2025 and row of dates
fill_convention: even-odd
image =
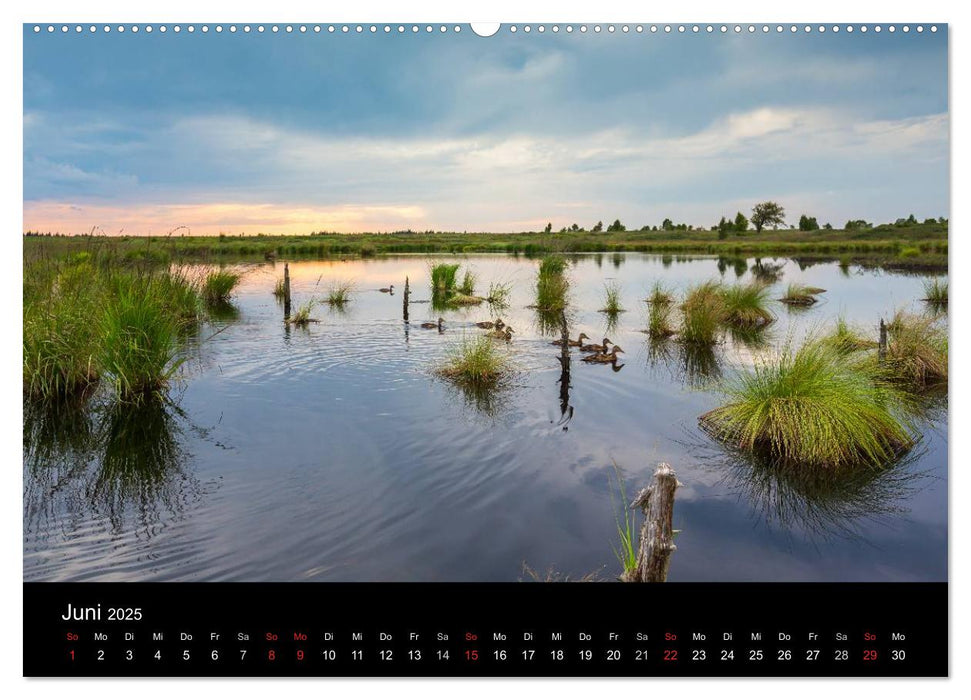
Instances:
[[[947,584],[24,584],[27,676],[945,676]]]

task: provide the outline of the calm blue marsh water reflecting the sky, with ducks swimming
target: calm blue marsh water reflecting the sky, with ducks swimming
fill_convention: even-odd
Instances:
[[[431,308],[429,266],[442,260],[471,268],[480,293],[512,285],[498,313],[515,329],[516,372],[488,396],[433,373],[495,318],[487,305]],[[571,258],[571,337],[607,335],[625,352],[612,367],[573,350],[568,373],[550,344],[559,328],[527,308],[534,260],[291,262],[295,305],[332,280],[356,284],[343,311],[318,306],[307,328],[283,323],[282,263],[241,266],[233,307],[188,341],[167,404],[25,406],[24,578],[516,581],[525,565],[610,579],[620,485],[631,495],[664,461],[683,484],[670,580],[946,580],[946,405],[906,460],[849,481],[781,479],[698,430],[718,379],[758,353],[840,315],[875,337],[894,309],[920,310],[917,276],[764,262],[783,266],[773,298],[790,282],[827,291],[808,309],[773,302],[759,342],[687,353],[640,332],[651,285],[747,281],[754,260]],[[616,319],[598,312],[607,281],[627,309]],[[444,332],[419,327],[439,316]]]

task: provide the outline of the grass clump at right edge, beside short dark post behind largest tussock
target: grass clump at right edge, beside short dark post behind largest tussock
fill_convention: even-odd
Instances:
[[[898,311],[887,325],[884,367],[892,381],[923,391],[947,384],[947,329],[933,316]]]

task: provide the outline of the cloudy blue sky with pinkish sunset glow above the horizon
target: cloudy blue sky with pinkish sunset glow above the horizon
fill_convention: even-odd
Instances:
[[[396,28],[396,27],[395,27]],[[35,34],[24,230],[948,216],[947,30]]]

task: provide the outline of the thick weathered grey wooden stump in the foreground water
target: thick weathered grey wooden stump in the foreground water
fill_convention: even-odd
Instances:
[[[644,524],[638,542],[637,566],[624,574],[624,581],[663,583],[667,580],[671,554],[677,549],[671,522],[674,516],[674,492],[678,486],[674,470],[662,462],[654,470],[651,485],[642,489],[631,503],[631,508],[644,511]]]

